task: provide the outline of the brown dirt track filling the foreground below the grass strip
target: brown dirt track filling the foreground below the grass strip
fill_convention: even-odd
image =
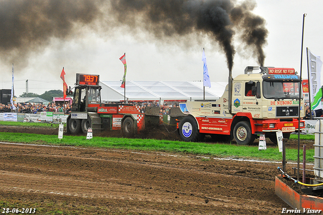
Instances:
[[[8,129],[0,127],[0,132]],[[42,128],[11,127],[10,132],[58,134]],[[297,141],[290,144],[297,147]],[[34,214],[281,214],[291,207],[275,194],[278,166],[190,154],[0,143],[1,212],[28,207],[36,208]],[[286,169],[292,173],[295,166],[288,163]]]

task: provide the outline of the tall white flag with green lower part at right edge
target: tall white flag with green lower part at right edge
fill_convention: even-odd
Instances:
[[[309,71],[308,85],[311,96],[311,110],[319,110],[321,107],[321,67],[322,61],[307,49],[307,66]]]

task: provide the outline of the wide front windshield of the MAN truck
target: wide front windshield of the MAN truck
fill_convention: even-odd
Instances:
[[[263,96],[266,99],[297,99],[299,98],[298,89],[298,82],[263,81]],[[302,92],[301,98],[303,98]]]

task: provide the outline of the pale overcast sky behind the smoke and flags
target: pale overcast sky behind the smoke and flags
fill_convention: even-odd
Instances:
[[[55,2],[55,0],[52,1]],[[22,6],[17,4],[17,11],[11,13],[13,10],[11,2],[21,1],[0,0],[0,6],[2,6],[0,7],[1,22],[7,19],[25,18],[28,20],[28,16],[21,16],[20,12],[17,11],[19,11],[19,7],[33,7],[33,5]],[[37,3],[38,1],[30,2]],[[78,2],[87,3],[86,0],[79,0]],[[99,7],[98,10],[101,10],[101,12],[104,11],[105,7],[110,7],[106,6],[108,0],[97,2],[105,4],[104,7]],[[307,14],[305,17],[302,66],[302,78],[307,78],[306,47],[315,55],[323,55],[323,43],[321,41],[323,1],[261,0],[255,1],[255,3],[256,7],[251,10],[251,13],[265,20],[264,27],[268,31],[265,38],[266,43],[263,46],[264,66],[292,67],[300,72],[302,21],[303,14]],[[4,5],[9,9],[3,7]],[[87,6],[87,8],[90,7],[91,5]],[[50,6],[46,5],[46,8],[50,10]],[[34,8],[34,10],[38,9]],[[96,12],[94,11],[94,13]],[[9,15],[5,16],[4,13]],[[15,16],[15,13],[19,16]],[[62,12],[61,10],[59,15],[63,13],[68,14],[69,11],[63,10]],[[44,39],[36,38],[35,42],[32,40],[36,37],[35,35],[43,35],[42,32],[38,32],[39,28],[46,27],[36,26],[38,30],[34,31],[20,25],[11,26],[16,33],[23,29],[20,34],[22,38],[19,41],[24,41],[28,45],[18,42],[18,45],[11,46],[9,39],[6,40],[8,44],[0,45],[2,46],[0,50],[2,69],[0,88],[11,89],[12,63],[14,63],[15,69],[14,88],[17,97],[26,92],[27,79],[29,93],[42,94],[49,90],[62,90],[63,84],[60,74],[63,67],[65,67],[66,82],[70,86],[75,83],[76,73],[99,74],[100,80],[121,80],[124,68],[119,58],[124,53],[126,53],[128,66],[126,80],[197,81],[202,80],[203,76],[203,62],[201,60],[203,48],[205,49],[211,81],[228,81],[229,70],[226,55],[219,42],[208,33],[197,31],[197,33],[192,34],[186,33],[184,36],[174,33],[160,39],[158,38],[158,30],[151,31],[148,25],[142,27],[142,25],[133,23],[132,26],[130,21],[120,23],[118,21],[120,17],[118,17],[116,11],[102,12],[99,18],[93,17],[86,17],[86,21],[73,21],[70,28],[65,28],[62,31],[50,31],[55,27],[49,28],[47,31],[51,33],[45,35]],[[41,18],[42,16],[38,16],[38,19]],[[125,19],[131,18],[133,17],[125,17]],[[67,19],[71,20],[73,17]],[[145,23],[144,19],[139,21]],[[37,19],[32,22],[38,23]],[[24,23],[28,23],[28,21]],[[66,23],[63,22],[62,25],[64,24]],[[52,25],[55,26],[55,23]],[[153,26],[150,27],[153,28]],[[239,33],[236,32],[235,35],[237,34]],[[28,39],[24,39],[25,35]],[[232,41],[236,51],[233,58],[233,78],[242,74],[246,66],[259,66],[256,57],[245,49],[235,35]],[[10,36],[10,34],[6,36]],[[0,40],[0,43],[2,42],[3,39]],[[17,40],[12,42],[17,42]],[[32,44],[32,46],[29,44]],[[27,49],[22,48],[23,46],[27,46]]]

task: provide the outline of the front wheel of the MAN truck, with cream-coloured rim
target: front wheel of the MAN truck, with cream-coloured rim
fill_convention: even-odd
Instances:
[[[239,145],[251,144],[256,138],[251,134],[251,127],[247,121],[240,121],[234,126],[233,136]]]

